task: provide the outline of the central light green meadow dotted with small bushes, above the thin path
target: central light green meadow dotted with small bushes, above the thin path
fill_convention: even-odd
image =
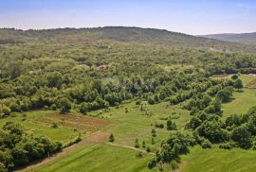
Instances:
[[[146,112],[142,112],[140,105],[136,105],[133,101],[123,104],[119,109],[112,108],[110,112],[102,112],[100,115],[92,112],[90,115],[108,118],[114,123],[106,128],[106,131],[114,134],[116,144],[135,146],[135,140],[138,139],[140,146],[145,141],[146,146],[155,151],[171,132],[166,129],[166,118],[171,116],[178,129],[183,129],[191,117],[188,111],[182,110],[179,106],[168,106],[168,104],[164,102],[144,106]],[[125,112],[126,110],[128,112]],[[164,129],[155,128],[155,123],[164,124]],[[152,144],[152,129],[156,130],[155,144]]]

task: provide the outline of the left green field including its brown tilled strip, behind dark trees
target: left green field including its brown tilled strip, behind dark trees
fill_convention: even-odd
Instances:
[[[1,119],[0,127],[9,121],[22,124],[28,134],[46,135],[50,139],[60,141],[63,144],[70,142],[79,134],[86,136],[110,124],[110,122],[98,118],[79,114],[59,114],[52,111],[14,113]],[[54,128],[53,124],[57,127]]]

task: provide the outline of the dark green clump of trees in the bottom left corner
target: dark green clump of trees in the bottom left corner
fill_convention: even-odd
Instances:
[[[11,171],[62,150],[60,142],[28,135],[20,124],[7,122],[0,129],[0,171]]]

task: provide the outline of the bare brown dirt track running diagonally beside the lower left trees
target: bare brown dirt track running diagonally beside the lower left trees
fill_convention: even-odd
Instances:
[[[46,158],[44,160],[31,163],[31,164],[27,165],[26,167],[17,169],[16,171],[29,171],[29,170],[32,170],[32,169],[34,169],[34,168],[36,168],[38,166],[44,165],[46,163],[53,162],[53,161],[63,157],[64,155],[66,155],[70,150],[74,149],[75,147],[82,146],[82,145],[87,144],[87,143],[89,144],[89,143],[105,142],[106,139],[108,138],[108,136],[109,136],[109,133],[107,133],[107,132],[97,131],[97,132],[93,133],[92,135],[90,135],[89,137],[84,138],[78,144],[74,144],[72,146],[65,147],[63,149],[63,151],[61,151],[59,153],[56,153],[56,154],[54,154],[53,156],[51,156],[49,158]]]

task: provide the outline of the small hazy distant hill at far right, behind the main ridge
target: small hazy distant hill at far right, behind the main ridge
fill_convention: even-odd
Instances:
[[[226,34],[202,35],[202,37],[216,39],[220,41],[226,41],[226,42],[256,44],[256,32],[241,33],[241,34],[226,33]]]

